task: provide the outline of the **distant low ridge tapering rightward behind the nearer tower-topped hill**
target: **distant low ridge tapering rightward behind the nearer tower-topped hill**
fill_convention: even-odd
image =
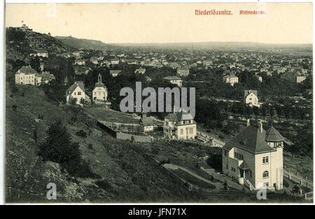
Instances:
[[[85,38],[74,38],[72,36],[55,36],[59,41],[76,49],[85,50],[106,50],[110,46],[103,43],[102,41],[95,41]]]

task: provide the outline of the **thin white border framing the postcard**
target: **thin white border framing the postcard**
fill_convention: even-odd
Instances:
[[[213,1],[213,0],[200,0],[200,1],[191,1],[191,0],[160,0],[160,1],[150,1],[150,0],[130,0],[130,1],[117,1],[117,0],[6,0],[6,3],[139,3],[139,2],[144,2],[144,3],[206,3],[206,2],[220,2],[220,3],[245,3],[245,2],[252,2],[252,3],[258,3],[258,1],[252,1],[252,0],[235,0],[235,1],[227,1],[227,0],[222,0],[222,1]],[[278,0],[278,1],[270,1],[270,0],[261,0],[259,2],[297,2],[296,0]],[[311,1],[298,1],[298,2],[312,2],[313,3],[313,71],[315,69],[315,63],[314,63],[314,2],[315,0]],[[5,41],[4,41],[4,33],[5,33],[5,2],[1,1],[0,3],[0,15],[1,16],[1,22],[0,22],[0,204],[5,204],[4,200],[4,170],[5,170]],[[2,20],[3,19],[3,20]],[[314,82],[315,78],[313,76],[313,90],[314,90]],[[313,98],[314,99],[314,98]],[[313,139],[314,139],[314,117],[315,117],[315,112],[314,112],[314,103],[313,103]],[[313,140],[314,142],[314,140]],[[314,147],[313,147],[314,150]],[[313,153],[313,165],[314,165],[314,153]],[[315,170],[313,167],[313,176],[315,175]],[[59,203],[62,204],[62,203]],[[140,205],[139,203],[127,203],[130,205]],[[185,204],[185,205],[200,205],[203,203],[142,203],[143,205],[151,205],[151,204],[162,204],[162,205],[171,205],[171,204]],[[218,205],[220,203],[214,203],[211,205]],[[227,203],[228,204],[228,203]],[[230,203],[232,204],[232,203]],[[255,205],[259,203],[248,203],[250,205]],[[314,203],[313,203],[314,204]],[[108,205],[123,205],[123,203],[113,203],[113,204],[108,204]],[[204,205],[210,205],[210,204],[204,204]],[[242,204],[240,204],[242,205]],[[274,204],[269,204],[269,205],[274,205]]]

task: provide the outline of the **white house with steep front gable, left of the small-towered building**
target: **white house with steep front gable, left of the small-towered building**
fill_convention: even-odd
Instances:
[[[74,82],[74,84],[66,90],[66,102],[71,103],[71,101],[79,105],[83,105],[82,101],[90,101],[90,97],[85,94],[82,81]]]

